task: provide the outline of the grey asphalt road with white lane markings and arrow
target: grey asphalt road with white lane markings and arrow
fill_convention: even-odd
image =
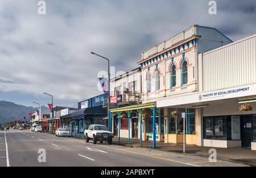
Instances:
[[[46,162],[39,149],[46,151]],[[40,159],[42,160],[42,159]],[[165,152],[150,148],[132,148],[107,143],[85,143],[77,138],[62,138],[31,131],[0,131],[0,166],[77,166],[77,167],[201,167],[246,166],[245,164]]]

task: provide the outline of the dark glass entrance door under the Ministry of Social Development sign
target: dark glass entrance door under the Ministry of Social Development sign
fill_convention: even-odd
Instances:
[[[241,116],[241,138],[243,147],[251,147],[251,136],[252,136],[252,118],[251,115],[242,115]]]

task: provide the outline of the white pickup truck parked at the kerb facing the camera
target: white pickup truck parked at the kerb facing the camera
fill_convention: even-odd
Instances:
[[[108,131],[107,127],[104,125],[90,125],[88,130],[84,132],[86,142],[93,140],[93,144],[97,141],[100,143],[108,142],[112,144],[113,133]]]

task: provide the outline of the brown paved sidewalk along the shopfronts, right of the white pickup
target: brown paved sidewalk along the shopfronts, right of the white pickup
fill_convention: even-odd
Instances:
[[[113,144],[118,144],[118,137],[113,138]],[[120,138],[122,146],[129,146],[128,139]],[[140,147],[140,140],[130,139],[130,147]],[[143,141],[142,147],[152,148],[152,141]],[[199,147],[195,145],[185,145],[185,153],[189,155],[208,157],[209,149],[212,147]],[[156,142],[156,149],[183,153],[183,144],[172,144],[164,142]],[[215,148],[217,150],[217,159],[229,160],[233,162],[240,162],[251,166],[256,166],[256,151],[250,148]]]

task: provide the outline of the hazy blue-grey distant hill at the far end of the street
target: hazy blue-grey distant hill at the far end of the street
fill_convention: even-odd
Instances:
[[[35,113],[36,108],[32,106],[30,108]],[[0,123],[16,121],[23,119],[25,116],[28,118],[28,113],[31,113],[31,109],[26,106],[16,105],[13,102],[0,101]]]

